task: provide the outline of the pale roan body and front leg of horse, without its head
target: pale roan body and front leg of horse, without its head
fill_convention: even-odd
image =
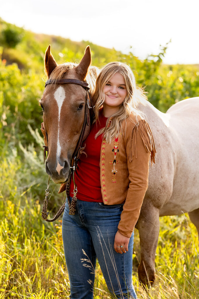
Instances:
[[[188,212],[199,232],[199,97],[176,103],[166,113],[149,102],[139,109],[147,116],[157,151],[136,226],[141,242],[138,273],[143,282],[146,271],[149,281],[155,280],[159,216]]]

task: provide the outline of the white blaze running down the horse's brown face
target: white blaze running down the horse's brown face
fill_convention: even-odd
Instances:
[[[65,99],[65,91],[64,91],[64,88],[62,86],[59,86],[58,89],[55,91],[54,97],[55,97],[55,100],[57,102],[58,109],[59,109],[59,112],[58,112],[57,167],[56,167],[56,170],[57,170],[58,174],[60,174],[60,171],[61,171],[61,169],[63,169],[63,166],[61,166],[58,162],[58,158],[61,154],[61,146],[60,146],[60,143],[59,143],[59,128],[60,128],[59,121],[60,121],[61,106],[62,106],[62,104],[64,102],[64,99]]]

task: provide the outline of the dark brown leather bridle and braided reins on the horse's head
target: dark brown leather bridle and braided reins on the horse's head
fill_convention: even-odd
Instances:
[[[86,83],[86,82],[83,82],[83,81],[80,81],[80,80],[76,80],[76,79],[53,79],[53,80],[47,80],[46,83],[45,83],[45,87],[48,85],[48,84],[52,84],[52,83],[55,83],[55,84],[77,84],[77,85],[80,85],[82,86],[84,89],[86,89],[86,105],[85,105],[85,111],[84,111],[84,123],[83,123],[83,127],[82,127],[82,130],[81,130],[81,134],[80,134],[80,137],[79,137],[79,140],[78,140],[78,143],[77,143],[77,146],[75,148],[75,151],[74,151],[74,155],[73,155],[73,158],[72,158],[72,161],[71,161],[71,165],[70,165],[70,174],[69,174],[69,178],[68,178],[68,181],[67,181],[67,185],[66,185],[66,195],[67,195],[67,199],[68,199],[68,205],[69,205],[69,214],[70,215],[74,215],[75,214],[75,208],[76,208],[76,202],[77,202],[77,198],[76,198],[76,195],[77,195],[77,185],[75,184],[75,170],[77,168],[77,161],[78,159],[80,158],[80,155],[83,152],[84,148],[85,147],[82,147],[82,142],[84,140],[84,133],[85,133],[85,129],[86,129],[86,126],[89,125],[89,121],[90,121],[90,109],[94,108],[94,106],[92,105],[92,102],[91,102],[91,97],[90,97],[90,93],[89,93],[89,85]],[[90,106],[92,105],[92,107]],[[44,161],[45,161],[45,158],[46,158],[46,152],[48,154],[48,147],[47,146],[44,146]],[[72,176],[72,180],[73,180],[73,184],[74,184],[74,190],[73,190],[73,197],[72,197],[72,201],[70,203],[69,201],[69,191],[70,191],[70,181],[71,181],[71,176]],[[49,190],[49,185],[50,185],[50,176],[48,177],[48,185],[47,185],[47,189],[45,190],[46,192],[46,195],[45,195],[45,199],[44,199],[44,205],[43,205],[43,209],[42,209],[42,219],[46,220],[47,222],[53,222],[55,221],[61,214],[62,212],[64,211],[64,208],[65,208],[65,202],[64,204],[61,206],[61,208],[58,210],[58,212],[56,213],[55,217],[53,217],[53,219],[47,219],[48,217],[48,214],[49,212],[47,212],[47,206],[48,206],[48,195],[50,194],[50,190]]]

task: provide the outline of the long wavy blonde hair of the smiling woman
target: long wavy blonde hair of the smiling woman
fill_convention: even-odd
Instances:
[[[96,80],[95,91],[92,97],[93,102],[96,103],[95,120],[99,121],[99,110],[103,107],[105,100],[104,86],[109,79],[115,75],[115,73],[119,73],[124,77],[127,95],[124,99],[124,102],[120,105],[119,111],[109,117],[107,119],[106,126],[99,130],[99,132],[95,135],[95,138],[97,138],[97,136],[103,133],[107,143],[110,143],[112,138],[118,136],[120,130],[122,129],[121,123],[123,120],[127,119],[131,113],[135,115],[136,122],[138,116],[144,118],[144,113],[141,112],[137,106],[138,103],[143,102],[143,100],[147,100],[144,91],[136,86],[135,77],[130,67],[126,63],[110,62],[105,65],[104,68],[102,68]],[[109,124],[110,118],[111,123]]]

